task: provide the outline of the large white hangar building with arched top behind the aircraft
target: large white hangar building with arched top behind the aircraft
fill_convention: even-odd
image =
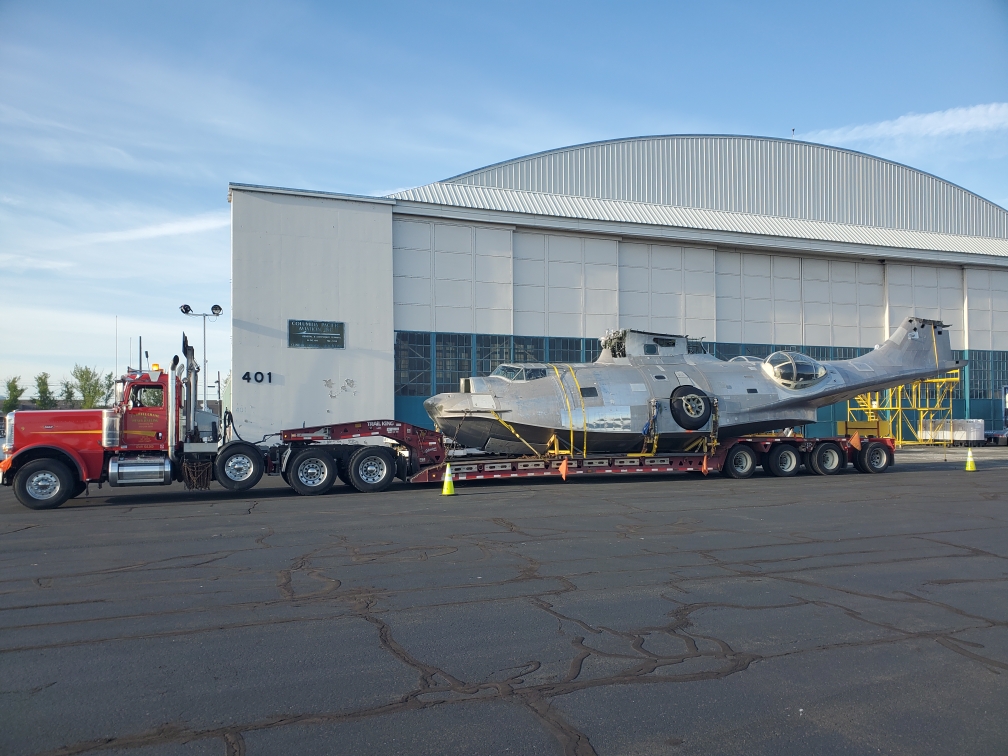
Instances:
[[[721,357],[853,357],[910,314],[1001,427],[1008,211],[878,157],[745,136],[541,152],[389,197],[232,183],[231,404],[245,437],[394,416],[503,361],[591,361],[608,329]],[[807,432],[833,432],[841,407]]]

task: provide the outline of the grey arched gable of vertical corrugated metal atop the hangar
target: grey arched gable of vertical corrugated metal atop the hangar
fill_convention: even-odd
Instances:
[[[905,165],[820,144],[741,136],[598,142],[448,179],[806,221],[1008,239],[1008,211]]]

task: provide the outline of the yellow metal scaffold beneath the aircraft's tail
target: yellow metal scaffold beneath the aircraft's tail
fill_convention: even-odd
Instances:
[[[847,422],[838,423],[838,431],[890,436],[897,447],[948,447],[953,442],[952,397],[959,380],[959,371],[951,370],[937,378],[856,396],[847,402]]]

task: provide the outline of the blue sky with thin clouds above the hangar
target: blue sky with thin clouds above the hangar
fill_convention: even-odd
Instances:
[[[113,370],[116,318],[120,370],[138,335],[199,349],[178,305],[230,308],[228,181],[382,195],[791,129],[1008,207],[1008,2],[0,2],[0,378]]]

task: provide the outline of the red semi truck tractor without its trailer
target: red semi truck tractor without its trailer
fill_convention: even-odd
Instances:
[[[18,410],[6,417],[0,482],[31,509],[51,509],[89,484],[207,488],[211,480],[244,491],[262,476],[264,453],[225,439],[222,418],[199,410],[199,367],[182,338],[186,364],[129,370],[105,409]]]

